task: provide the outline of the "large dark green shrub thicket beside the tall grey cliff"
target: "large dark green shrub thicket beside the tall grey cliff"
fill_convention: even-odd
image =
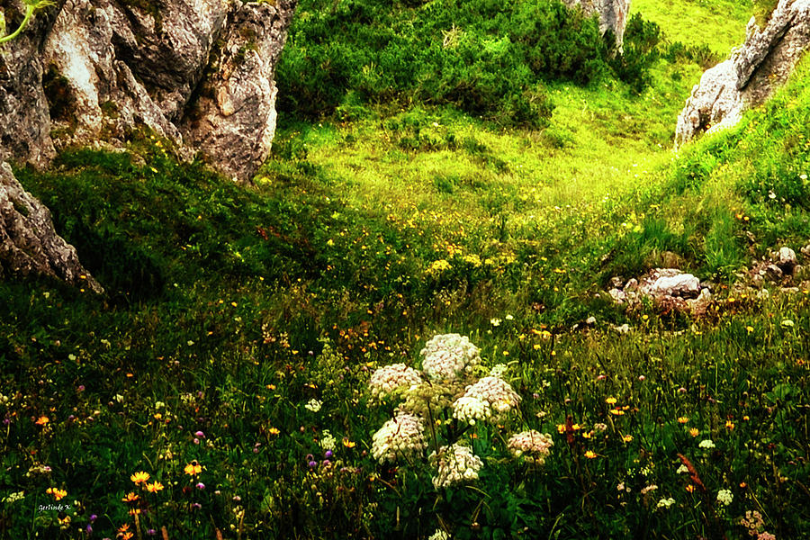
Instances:
[[[608,53],[596,19],[556,0],[304,0],[278,67],[279,109],[351,119],[366,103],[450,104],[544,127],[553,110],[544,81],[599,79]]]

